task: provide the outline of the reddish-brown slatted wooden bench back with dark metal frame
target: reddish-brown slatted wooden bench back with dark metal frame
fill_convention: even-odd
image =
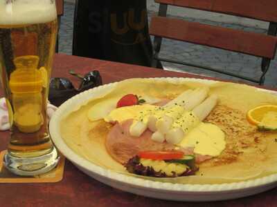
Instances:
[[[271,59],[274,59],[277,48],[277,1],[276,0],[155,0],[160,3],[158,17],[152,17],[150,34],[154,35],[154,59],[152,66],[157,67],[158,61],[180,63],[214,72],[220,72],[233,77],[246,79],[255,83],[264,83],[265,74],[269,69]],[[245,32],[223,28],[220,26],[209,26],[203,23],[190,22],[182,19],[168,18],[168,5],[210,12],[220,12],[238,17],[248,17],[269,22],[267,34]],[[162,38],[187,41],[203,46],[221,48],[233,52],[241,52],[262,58],[262,75],[260,79],[252,79],[238,74],[200,66],[196,63],[186,63],[170,59],[159,58]]]

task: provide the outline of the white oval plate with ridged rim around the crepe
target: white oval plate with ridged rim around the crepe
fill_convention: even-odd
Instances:
[[[188,79],[188,78],[154,78],[159,81],[200,81],[205,83],[215,83],[216,81],[206,79]],[[82,172],[98,181],[118,188],[120,190],[144,195],[146,197],[154,197],[158,199],[168,199],[175,201],[217,201],[224,199],[235,199],[261,193],[277,186],[277,174],[252,179],[249,181],[234,182],[231,184],[171,184],[159,181],[150,181],[136,177],[129,177],[118,172],[113,172],[105,168],[97,166],[80,155],[76,154],[69,146],[66,145],[60,133],[60,121],[63,115],[69,114],[76,106],[97,97],[102,91],[115,86],[116,83],[109,83],[87,90],[85,92],[67,100],[57,109],[50,121],[50,133],[52,140],[62,154],[73,162]],[[257,89],[260,90],[260,89]],[[263,89],[262,89],[263,90]],[[276,93],[270,90],[264,90]]]

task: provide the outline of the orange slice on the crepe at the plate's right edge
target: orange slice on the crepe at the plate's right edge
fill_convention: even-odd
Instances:
[[[261,124],[262,119],[269,112],[277,112],[277,105],[262,105],[247,112],[247,121],[253,125]]]

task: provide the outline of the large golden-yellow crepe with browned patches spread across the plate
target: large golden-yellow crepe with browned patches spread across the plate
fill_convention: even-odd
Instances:
[[[115,83],[104,92],[74,111],[64,115],[60,130],[66,144],[78,155],[93,164],[129,176],[125,168],[111,158],[105,148],[105,137],[111,124],[105,121],[89,121],[87,111],[91,106],[107,99],[120,99],[128,93],[173,99],[188,88],[208,86],[210,95],[219,97],[219,103],[204,121],[216,124],[226,133],[226,149],[218,157],[199,165],[199,172],[189,177],[152,178],[179,184],[222,184],[245,181],[277,172],[277,135],[275,132],[259,132],[247,120],[246,112],[262,104],[277,104],[277,97],[257,88],[236,83],[200,83],[170,79],[129,79]],[[176,81],[178,80],[178,81]]]

